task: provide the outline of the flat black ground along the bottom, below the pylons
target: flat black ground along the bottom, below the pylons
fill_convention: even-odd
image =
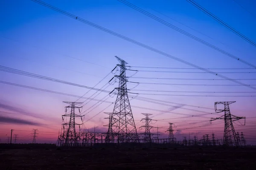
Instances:
[[[256,170],[256,148],[1,149],[1,170]]]

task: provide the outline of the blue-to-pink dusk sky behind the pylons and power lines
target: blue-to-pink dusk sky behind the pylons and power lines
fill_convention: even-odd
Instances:
[[[72,2],[68,0],[44,0],[44,2],[200,67],[209,69],[242,68],[212,70],[217,73],[246,72],[221,73],[221,75],[230,79],[255,78],[256,73],[254,72],[256,70],[250,66],[209,48],[117,0],[75,0]],[[217,23],[186,0],[129,0],[128,2],[236,57],[256,65],[255,46]],[[253,10],[256,8],[255,1],[236,0],[236,3],[233,0],[196,0],[196,2],[249,37],[250,40],[256,41],[256,13]],[[209,121],[211,117],[222,115],[222,113],[218,113],[218,115],[210,114],[215,112],[214,102],[236,101],[230,105],[231,114],[246,116],[247,119],[245,126],[244,119],[234,122],[235,130],[242,131],[250,144],[256,144],[254,133],[256,130],[256,91],[254,89],[244,86],[188,85],[236,84],[228,80],[180,80],[180,78],[219,78],[208,73],[191,73],[192,71],[201,71],[197,69],[142,68],[192,67],[81,23],[30,0],[0,1],[0,17],[1,66],[112,91],[118,87],[118,80],[115,82],[113,79],[109,83],[114,75],[119,74],[119,70],[116,69],[111,73],[113,68],[119,64],[114,57],[118,56],[128,62],[132,70],[139,70],[137,73],[127,71],[127,75],[132,76],[128,79],[130,82],[127,83],[128,89],[131,89],[130,92],[139,93],[139,97],[178,103],[162,105],[163,102],[160,102],[161,105],[159,105],[136,98],[130,99],[138,132],[144,130],[139,128],[144,124],[140,121],[144,118],[141,113],[151,113],[153,114],[150,116],[151,119],[157,120],[152,121],[152,126],[159,127],[158,131],[163,138],[168,135],[166,132],[169,127],[168,122],[172,122],[175,124],[174,133],[177,139],[182,139],[182,136],[188,137],[189,134],[191,136],[197,134],[198,139],[201,139],[202,135],[211,133],[215,133],[217,138],[221,139],[223,138],[224,120],[215,120],[211,124]],[[186,71],[186,73],[155,71]],[[136,74],[133,75],[134,73]],[[145,77],[174,79],[145,79]],[[89,91],[87,88],[26,77],[6,71],[0,71],[0,81],[76,96],[84,95],[84,97],[113,103],[116,99],[116,95],[99,93],[99,91],[94,90]],[[256,87],[256,80],[239,81]],[[136,86],[136,83],[131,82],[140,82],[140,84]],[[155,85],[152,83],[186,85]],[[145,90],[153,90],[154,92]],[[179,92],[156,92],[160,90]],[[193,91],[197,93],[192,93]],[[209,92],[224,93],[212,94]],[[61,115],[64,115],[64,107],[67,106],[63,101],[75,102],[78,100],[78,102],[84,102],[80,105],[83,106],[81,113],[85,114],[83,118],[84,125],[81,129],[93,130],[96,127],[96,131],[102,132],[107,130],[103,125],[108,124],[108,119],[104,119],[108,115],[104,112],[112,112],[114,107],[114,104],[110,105],[105,102],[79,99],[73,96],[53,94],[4,83],[0,83],[0,94],[1,142],[7,142],[7,137],[11,135],[11,129],[14,129],[13,133],[18,135],[19,142],[29,142],[30,140],[32,142],[32,129],[38,129],[38,142],[55,142],[63,123]],[[205,108],[191,107],[191,105]],[[191,109],[194,109],[194,111]],[[175,113],[166,113],[166,111]],[[205,116],[207,118],[196,116],[205,114],[202,112],[209,113]],[[77,119],[77,121],[81,120]],[[151,132],[157,133],[157,128],[152,128]]]

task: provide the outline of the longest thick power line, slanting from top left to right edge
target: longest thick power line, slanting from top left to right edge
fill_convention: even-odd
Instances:
[[[87,21],[87,20],[84,20],[84,19],[82,19],[82,18],[80,18],[80,17],[77,17],[76,15],[70,14],[70,13],[68,13],[68,12],[66,12],[66,11],[63,11],[63,10],[59,9],[59,8],[56,8],[56,7],[51,6],[51,5],[47,4],[47,3],[44,3],[44,2],[41,1],[41,0],[32,0],[32,1],[38,3],[38,4],[42,5],[42,6],[46,6],[47,8],[50,8],[50,9],[52,9],[52,10],[55,10],[55,11],[61,13],[61,14],[67,15],[68,17],[71,17],[71,18],[73,18],[73,19],[75,19],[75,20],[79,20],[79,21],[81,21],[82,23],[86,23],[86,24],[88,24],[88,25],[90,25],[90,26],[93,26],[93,27],[95,27],[95,28],[98,28],[98,29],[100,29],[100,30],[102,30],[102,31],[108,32],[109,34],[112,34],[112,35],[114,35],[114,36],[116,36],[116,37],[122,38],[122,39],[127,40],[127,41],[129,41],[129,42],[132,42],[132,43],[134,43],[134,44],[140,45],[140,46],[142,46],[142,47],[144,47],[144,48],[147,48],[147,49],[149,49],[149,50],[151,50],[151,51],[154,51],[154,52],[156,52],[156,53],[158,53],[158,54],[162,54],[162,55],[164,55],[164,56],[166,56],[166,57],[169,57],[169,58],[175,59],[175,60],[177,60],[177,61],[179,61],[179,62],[182,62],[182,63],[184,63],[184,64],[186,64],[186,65],[190,65],[190,66],[192,66],[192,67],[198,68],[198,69],[203,70],[203,71],[206,71],[206,72],[208,72],[208,73],[211,73],[212,75],[221,77],[221,78],[223,78],[223,79],[228,79],[228,80],[230,80],[230,81],[232,81],[232,82],[235,82],[235,83],[237,83],[237,84],[244,85],[244,86],[246,86],[246,87],[248,87],[248,88],[252,88],[252,89],[256,90],[255,87],[248,86],[248,85],[246,85],[246,84],[244,84],[244,83],[242,83],[242,82],[239,82],[239,81],[236,81],[236,80],[234,80],[234,79],[230,79],[230,78],[228,78],[228,77],[222,76],[221,74],[217,74],[217,73],[215,73],[215,72],[213,72],[213,71],[209,71],[209,70],[207,70],[207,69],[205,69],[205,68],[199,67],[198,65],[192,64],[192,63],[187,62],[187,61],[185,61],[185,60],[182,60],[182,59],[179,59],[179,58],[177,58],[177,57],[174,57],[174,56],[172,56],[172,55],[170,55],[170,54],[164,53],[163,51],[157,50],[157,49],[152,48],[152,47],[150,47],[150,46],[148,46],[148,45],[145,45],[145,44],[143,44],[143,43],[140,43],[140,42],[137,42],[137,41],[135,41],[135,40],[132,40],[132,39],[130,39],[130,38],[128,38],[128,37],[125,37],[125,36],[123,36],[123,35],[121,35],[121,34],[117,34],[116,32],[113,32],[113,31],[108,30],[108,29],[106,29],[106,28],[104,28],[104,27],[98,26],[98,25],[96,25],[96,24],[94,24],[94,23],[91,23],[91,22],[89,22],[89,21]]]

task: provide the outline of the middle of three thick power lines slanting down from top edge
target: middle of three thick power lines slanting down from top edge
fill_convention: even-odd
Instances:
[[[151,17],[152,19],[154,19],[154,20],[156,20],[156,21],[158,21],[158,22],[160,22],[160,23],[162,23],[162,24],[164,24],[164,25],[174,29],[175,31],[178,31],[178,32],[180,32],[180,33],[182,33],[182,34],[184,34],[184,35],[186,35],[186,36],[188,36],[188,37],[190,37],[190,38],[192,38],[194,40],[197,40],[198,42],[201,42],[204,45],[209,46],[210,48],[215,49],[216,51],[219,51],[219,52],[227,55],[228,57],[231,57],[231,58],[236,59],[236,60],[238,60],[240,62],[243,62],[246,65],[250,65],[251,67],[256,68],[256,66],[251,64],[250,62],[244,61],[243,59],[240,59],[239,57],[236,57],[236,56],[228,53],[227,51],[224,51],[224,50],[222,50],[222,49],[220,49],[220,48],[218,48],[218,47],[216,47],[216,46],[214,46],[214,45],[212,45],[212,44],[210,44],[210,43],[208,43],[208,42],[206,42],[206,41],[204,41],[204,40],[202,40],[202,39],[200,39],[198,37],[195,37],[194,35],[189,34],[188,32],[186,32],[186,31],[184,31],[184,30],[182,30],[182,29],[180,29],[180,28],[178,28],[178,27],[176,27],[176,26],[166,22],[165,20],[160,19],[159,17],[157,17],[157,16],[155,16],[155,15],[153,15],[153,14],[151,14],[151,13],[149,13],[149,12],[147,12],[147,11],[137,7],[137,6],[135,6],[132,3],[129,3],[126,0],[118,0],[118,1],[121,2],[121,3],[124,3],[126,6],[129,6],[129,7],[133,8],[133,9],[135,9],[136,11],[139,11],[140,13],[145,14],[146,16]],[[255,46],[256,46],[256,44],[255,44]]]

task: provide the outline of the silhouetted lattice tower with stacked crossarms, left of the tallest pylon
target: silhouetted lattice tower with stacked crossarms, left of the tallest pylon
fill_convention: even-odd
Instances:
[[[79,109],[79,113],[80,112],[80,108],[76,105],[81,104],[81,102],[64,102],[69,104],[69,106],[65,107],[65,114],[62,115],[62,120],[63,116],[68,116],[70,117],[69,122],[66,122],[63,125],[63,138],[65,140],[64,142],[64,146],[76,146],[78,143],[78,139],[79,139],[79,135],[76,134],[76,125],[82,125],[82,124],[78,124],[75,122],[75,117],[82,117],[84,115],[78,115],[75,113],[75,109],[78,108]],[[70,113],[67,113],[67,108],[71,108]],[[82,118],[81,118],[82,119]],[[64,125],[67,126],[67,128],[64,128]],[[80,127],[79,127],[80,128]],[[65,130],[66,129],[66,130]]]

